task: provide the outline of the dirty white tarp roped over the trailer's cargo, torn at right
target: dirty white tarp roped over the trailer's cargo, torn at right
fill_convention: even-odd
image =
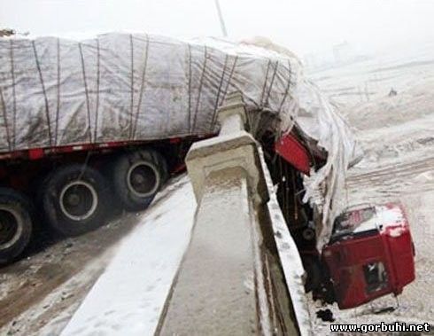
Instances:
[[[291,52],[106,34],[81,42],[2,38],[0,59],[0,152],[213,134],[217,107],[240,90],[253,121],[261,111],[276,117],[260,127],[278,137],[295,126],[313,150],[328,153],[305,181],[306,199],[324,215],[318,245],[327,241],[357,147]]]

